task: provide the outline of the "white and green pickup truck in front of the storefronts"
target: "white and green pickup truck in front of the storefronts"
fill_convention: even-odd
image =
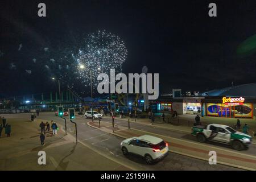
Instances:
[[[199,142],[211,140],[213,142],[229,144],[234,150],[244,150],[251,144],[251,136],[241,133],[226,125],[210,124],[192,127],[192,135]]]

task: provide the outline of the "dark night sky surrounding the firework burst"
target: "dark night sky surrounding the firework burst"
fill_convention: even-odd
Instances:
[[[208,16],[210,2],[217,17]],[[256,1],[0,1],[0,16],[0,98],[56,90],[50,78],[58,73],[45,70],[44,61],[77,51],[98,30],[125,42],[124,73],[141,73],[144,65],[159,73],[162,94],[255,82],[254,50],[237,49],[256,34]]]

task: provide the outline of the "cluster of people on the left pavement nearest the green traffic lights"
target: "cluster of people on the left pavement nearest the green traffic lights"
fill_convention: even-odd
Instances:
[[[44,123],[43,121],[40,123],[39,125],[40,129],[41,129],[41,134],[40,134],[40,142],[41,144],[44,146],[44,140],[46,139],[46,132],[51,132],[53,135],[57,134],[57,130],[59,130],[56,122],[51,121],[51,124],[49,122]],[[51,131],[50,131],[51,128]]]

